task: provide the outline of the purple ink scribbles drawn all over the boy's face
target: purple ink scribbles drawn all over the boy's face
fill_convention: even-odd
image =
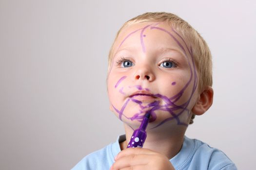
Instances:
[[[157,24],[151,24],[151,25],[147,25],[146,27],[143,27],[141,29],[138,29],[138,30],[141,30],[140,32],[140,42],[141,42],[141,47],[142,47],[142,51],[145,52],[145,45],[144,45],[144,41],[143,41],[143,37],[145,37],[146,35],[143,34],[143,32],[149,27],[150,27],[150,30],[159,30],[159,31],[162,31],[166,34],[168,34],[176,43],[177,45],[181,48],[181,50],[183,51],[186,59],[189,61],[189,57],[187,55],[187,52],[188,51],[188,54],[190,54],[190,58],[191,58],[191,61],[192,62],[188,62],[189,63],[189,68],[190,68],[190,79],[188,80],[188,82],[184,85],[184,87],[177,93],[175,94],[174,96],[172,97],[167,97],[167,96],[164,96],[164,95],[161,95],[161,94],[153,94],[152,96],[154,96],[156,98],[155,101],[147,104],[147,105],[142,105],[143,102],[141,101],[138,101],[138,100],[135,100],[133,98],[129,98],[122,106],[122,108],[120,109],[120,111],[118,109],[116,109],[114,107],[114,105],[112,104],[113,108],[116,110],[116,112],[119,114],[119,119],[121,120],[122,119],[122,116],[124,116],[126,119],[130,119],[130,120],[137,120],[137,121],[142,121],[144,115],[146,113],[149,113],[150,114],[150,121],[149,122],[153,122],[157,119],[157,114],[155,111],[165,111],[165,112],[168,112],[170,114],[170,118],[167,118],[167,119],[164,119],[163,121],[161,121],[160,123],[158,123],[158,125],[156,125],[155,127],[151,128],[151,129],[154,129],[154,128],[157,128],[158,126],[170,121],[170,120],[173,120],[175,119],[177,121],[177,125],[182,125],[182,126],[188,126],[187,123],[184,123],[184,122],[181,122],[180,121],[180,118],[179,116],[181,114],[185,114],[187,113],[187,115],[190,114],[189,112],[189,109],[187,108],[190,101],[191,101],[191,98],[197,88],[197,70],[196,70],[196,66],[195,66],[195,61],[194,61],[194,56],[193,56],[193,51],[192,51],[192,47],[190,47],[190,49],[188,48],[187,46],[187,43],[184,41],[184,39],[182,38],[181,35],[179,35],[173,28],[172,28],[172,31],[178,36],[180,37],[180,39],[183,41],[183,43],[185,44],[185,48],[182,46],[182,44],[177,40],[177,38],[169,31],[165,30],[164,28],[161,28],[161,27],[157,27],[159,23]],[[134,34],[135,32],[137,32],[138,30],[128,34],[124,39],[123,41],[121,42],[121,44],[119,45],[119,47],[122,45],[122,43],[131,35],[131,34]],[[191,64],[192,63],[192,64]],[[126,76],[123,76],[118,82],[117,84],[115,85],[115,88],[119,85],[119,83],[125,79]],[[194,78],[194,80],[193,80]],[[179,101],[179,99],[183,96],[183,93],[184,91],[187,89],[187,87],[189,85],[191,85],[193,83],[193,89],[192,89],[192,92],[190,94],[190,97],[187,101],[185,101],[184,103],[181,103],[181,104],[176,104],[176,102]],[[176,85],[176,82],[172,82],[172,85]],[[132,87],[136,87],[138,90],[146,90],[146,91],[149,91],[148,88],[142,88],[141,85],[134,85],[134,86],[129,86],[129,88],[132,88]],[[122,87],[123,88],[123,87]],[[119,90],[119,91],[122,91],[122,88]],[[164,103],[161,105],[161,102],[160,101],[163,101]],[[138,104],[140,110],[138,113],[134,114],[133,117],[131,118],[128,118],[126,117],[123,112],[127,106],[127,104],[129,102],[134,102],[136,104]],[[129,125],[130,126],[130,125]],[[130,126],[131,127],[131,126]],[[131,127],[132,128],[132,127]],[[133,128],[132,128],[133,129]]]

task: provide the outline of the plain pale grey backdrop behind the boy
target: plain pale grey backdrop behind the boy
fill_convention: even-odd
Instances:
[[[145,12],[188,21],[213,55],[214,104],[186,136],[255,169],[255,0],[0,0],[0,170],[69,170],[124,134],[109,48]]]

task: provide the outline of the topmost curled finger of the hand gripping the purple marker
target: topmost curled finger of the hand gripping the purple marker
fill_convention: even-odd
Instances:
[[[156,152],[144,148],[127,148],[118,153],[118,155],[115,157],[115,160],[131,154],[156,154]]]

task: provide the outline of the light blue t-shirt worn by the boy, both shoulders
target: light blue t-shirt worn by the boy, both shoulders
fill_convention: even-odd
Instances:
[[[109,170],[121,151],[119,142],[124,140],[125,135],[118,136],[115,143],[88,154],[72,170]],[[186,136],[181,150],[170,161],[175,170],[237,170],[225,153]]]

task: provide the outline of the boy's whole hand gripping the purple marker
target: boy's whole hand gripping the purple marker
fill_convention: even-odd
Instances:
[[[169,159],[144,148],[127,148],[118,153],[110,170],[175,170]]]

